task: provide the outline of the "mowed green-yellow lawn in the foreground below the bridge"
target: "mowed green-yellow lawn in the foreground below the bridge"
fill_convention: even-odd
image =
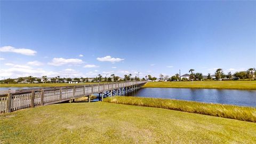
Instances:
[[[252,122],[108,102],[0,115],[2,143],[256,143],[255,131]]]

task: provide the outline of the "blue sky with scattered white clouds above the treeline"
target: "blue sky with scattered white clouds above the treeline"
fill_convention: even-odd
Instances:
[[[1,79],[256,67],[255,1],[0,3]]]

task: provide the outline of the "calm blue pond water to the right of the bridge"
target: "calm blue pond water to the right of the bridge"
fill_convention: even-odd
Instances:
[[[256,107],[256,90],[143,88],[128,95]]]

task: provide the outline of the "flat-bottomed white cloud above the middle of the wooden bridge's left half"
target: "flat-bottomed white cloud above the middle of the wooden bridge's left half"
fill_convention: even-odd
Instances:
[[[61,66],[61,65],[78,65],[84,63],[81,59],[63,59],[63,58],[53,58],[52,62],[49,62],[49,65]]]

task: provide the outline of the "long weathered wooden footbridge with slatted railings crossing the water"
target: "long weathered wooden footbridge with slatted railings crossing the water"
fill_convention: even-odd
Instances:
[[[62,101],[74,100],[76,98],[88,97],[98,93],[99,100],[111,95],[125,94],[140,89],[146,81],[106,83],[94,85],[78,85],[66,87],[46,87],[44,89],[20,90],[9,92],[0,97],[0,113],[10,113],[11,111],[34,108],[36,106],[51,105]]]

